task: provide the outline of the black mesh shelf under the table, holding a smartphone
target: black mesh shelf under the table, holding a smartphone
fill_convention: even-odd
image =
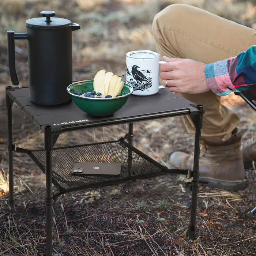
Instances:
[[[28,151],[28,155],[45,173],[45,151]],[[112,175],[74,176],[76,162],[120,163],[121,173]],[[127,143],[123,138],[112,142],[59,147],[52,150],[52,182],[59,194],[100,185],[124,182],[165,174],[169,169]]]

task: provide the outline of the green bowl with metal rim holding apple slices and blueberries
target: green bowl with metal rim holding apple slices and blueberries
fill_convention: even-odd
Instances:
[[[80,93],[86,93],[93,90],[93,80],[84,80],[69,84],[67,87],[68,93],[71,95],[72,100],[75,104],[92,116],[109,116],[122,108],[127,101],[130,94],[132,94],[133,89],[127,83],[124,83],[123,90],[120,96],[113,98],[87,98],[83,96],[76,95],[79,91]]]

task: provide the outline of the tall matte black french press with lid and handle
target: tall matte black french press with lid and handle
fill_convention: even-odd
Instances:
[[[7,31],[10,76],[18,85],[14,39],[27,39],[30,101],[58,105],[71,100],[66,88],[72,83],[72,31],[80,26],[52,18],[54,11],[42,11],[41,16],[26,21],[27,33]]]

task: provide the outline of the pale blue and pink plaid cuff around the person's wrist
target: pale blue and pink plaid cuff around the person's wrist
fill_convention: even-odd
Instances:
[[[207,64],[204,69],[208,86],[212,92],[220,96],[237,91],[230,80],[227,61],[228,59]]]

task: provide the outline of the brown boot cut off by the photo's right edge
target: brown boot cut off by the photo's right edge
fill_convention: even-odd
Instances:
[[[256,136],[246,140],[242,146],[242,155],[245,168],[252,167],[252,161],[256,163]]]

